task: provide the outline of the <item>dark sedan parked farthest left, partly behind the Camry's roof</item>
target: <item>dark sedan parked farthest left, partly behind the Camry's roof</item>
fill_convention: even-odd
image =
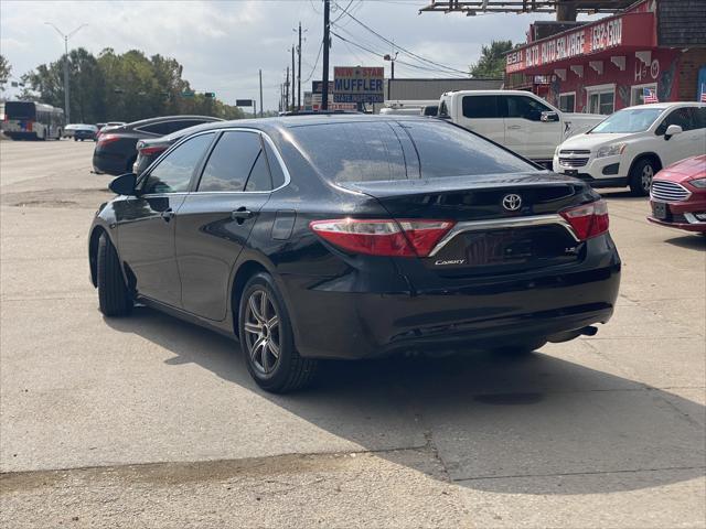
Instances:
[[[93,152],[93,170],[95,173],[114,175],[130,172],[137,160],[138,140],[159,138],[211,121],[220,121],[220,119],[210,116],[167,116],[116,127],[108,123],[98,136],[98,142]]]

